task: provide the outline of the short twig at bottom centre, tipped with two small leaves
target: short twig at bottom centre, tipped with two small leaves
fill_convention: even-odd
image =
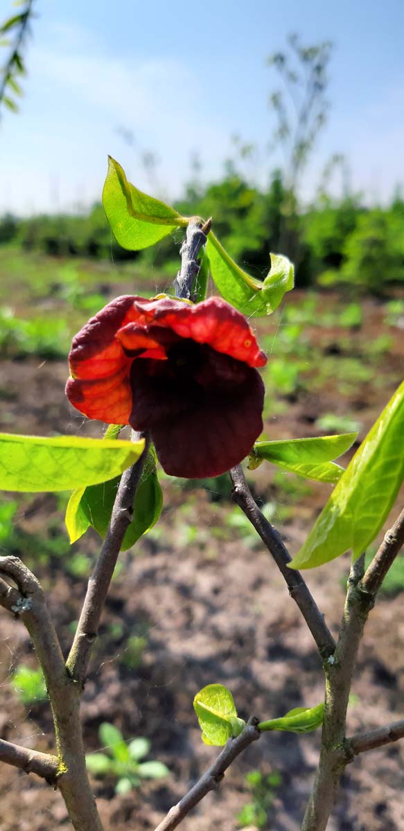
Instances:
[[[193,788],[185,794],[185,797],[180,802],[170,809],[155,831],[172,831],[185,818],[186,814],[192,808],[195,808],[201,799],[204,799],[209,790],[216,790],[224,777],[224,771],[229,768],[229,765],[234,762],[234,759],[245,750],[246,747],[252,744],[253,741],[259,739],[261,735],[257,729],[257,719],[250,719],[245,725],[244,730],[237,736],[237,739],[229,739],[224,749],[213,765],[210,765],[208,770],[198,779],[198,782]]]

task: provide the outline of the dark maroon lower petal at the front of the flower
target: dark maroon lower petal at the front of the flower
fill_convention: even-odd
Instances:
[[[219,476],[249,454],[263,429],[264,384],[255,370],[229,396],[207,395],[193,410],[171,413],[152,425],[155,450],[166,473],[187,479]]]

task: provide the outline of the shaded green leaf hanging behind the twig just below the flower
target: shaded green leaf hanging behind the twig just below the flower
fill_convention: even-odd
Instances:
[[[120,481],[121,477],[117,476],[101,484],[75,490],[71,494],[65,517],[71,543],[75,543],[90,526],[102,538],[106,536]],[[142,534],[155,525],[162,507],[163,492],[157,477],[155,450],[150,447],[135,494],[133,519],[123,538],[122,551],[135,545]]]

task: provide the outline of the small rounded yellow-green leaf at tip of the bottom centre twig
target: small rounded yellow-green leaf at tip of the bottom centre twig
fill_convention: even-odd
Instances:
[[[195,696],[194,709],[205,745],[225,745],[244,728],[245,721],[237,716],[231,692],[221,684],[204,686]]]

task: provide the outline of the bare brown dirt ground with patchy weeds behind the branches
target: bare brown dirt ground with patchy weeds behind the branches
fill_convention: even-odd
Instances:
[[[365,304],[367,337],[380,332],[377,303]],[[328,340],[338,337],[328,332]],[[324,337],[313,332],[313,342]],[[324,348],[327,344],[324,345]],[[358,387],[349,402],[361,411],[363,431],[382,409],[401,380],[402,358],[397,344],[383,364],[389,384],[382,391]],[[391,381],[390,381],[391,379]],[[99,435],[100,425],[85,425],[64,399],[66,366],[59,362],[3,361],[0,429],[37,434],[84,430]],[[346,402],[335,394],[333,379],[319,397],[303,393],[288,410],[267,425],[273,437],[313,435],[319,412],[343,412]],[[255,489],[269,498],[271,480],[264,467],[255,475]],[[152,758],[165,761],[170,778],[145,784],[125,796],[114,794],[113,783],[97,781],[96,794],[106,831],[154,829],[170,805],[195,782],[217,750],[200,741],[192,710],[195,692],[210,682],[229,686],[239,715],[261,718],[282,715],[295,706],[313,706],[322,700],[323,677],[309,632],[269,558],[260,546],[249,547],[235,530],[211,534],[212,525],[224,528],[228,509],[203,489],[182,490],[166,481],[165,509],[160,535],[145,537],[135,553],[123,556],[123,567],[111,587],[106,614],[92,661],[83,701],[83,723],[89,750],[99,748],[98,727],[113,721],[130,739],[147,735]],[[275,494],[276,489],[271,493]],[[282,533],[292,551],[302,543],[313,516],[328,490],[313,485],[311,494],[293,506]],[[280,498],[280,494],[279,494]],[[187,500],[189,514],[180,510]],[[283,494],[283,500],[288,498]],[[182,517],[181,521],[178,517]],[[27,534],[44,529],[49,519],[61,517],[57,500],[39,495],[18,519]],[[186,525],[198,526],[193,538]],[[185,528],[185,529],[184,529]],[[76,543],[75,550],[93,556],[95,534]],[[22,551],[22,556],[24,552]],[[69,556],[69,554],[67,554]],[[62,642],[68,648],[71,622],[76,620],[85,590],[82,578],[73,578],[60,560],[40,564],[37,573],[49,593],[49,603]],[[342,613],[342,580],[348,558],[308,573],[308,583],[325,612],[333,632]],[[27,711],[9,681],[20,662],[35,666],[27,634],[20,622],[1,615],[0,736],[41,750],[53,749],[52,722],[47,702]],[[140,666],[125,662],[127,637],[147,632]],[[402,596],[381,598],[367,625],[353,692],[357,703],[349,712],[349,731],[371,729],[403,715],[404,616]],[[184,831],[218,827],[233,831],[236,814],[249,801],[245,773],[259,767],[278,770],[277,789],[267,829],[297,831],[313,781],[319,735],[299,737],[270,734],[252,745],[226,774],[219,791],[210,794],[181,826]],[[404,820],[404,743],[362,755],[344,776],[329,831],[400,831]],[[3,765],[0,770],[1,831],[51,831],[69,828],[58,793],[33,776]]]

